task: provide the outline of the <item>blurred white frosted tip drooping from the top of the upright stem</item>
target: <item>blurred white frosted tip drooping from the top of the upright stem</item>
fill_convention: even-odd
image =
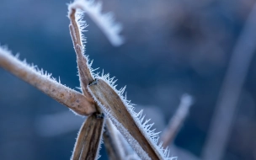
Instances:
[[[94,23],[104,32],[112,45],[118,46],[124,43],[124,38],[120,36],[121,25],[115,23],[113,13],[101,13],[102,4],[94,0],[76,0],[69,5],[69,10],[81,9],[93,19]]]

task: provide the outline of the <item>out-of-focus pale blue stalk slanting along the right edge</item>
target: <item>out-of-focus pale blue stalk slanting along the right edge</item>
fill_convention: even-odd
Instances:
[[[205,142],[203,151],[203,159],[205,160],[220,160],[227,147],[237,101],[256,49],[255,17],[256,4],[254,4],[248,16],[243,32],[232,53],[221,93],[217,100],[216,110],[211,120],[209,136]]]

